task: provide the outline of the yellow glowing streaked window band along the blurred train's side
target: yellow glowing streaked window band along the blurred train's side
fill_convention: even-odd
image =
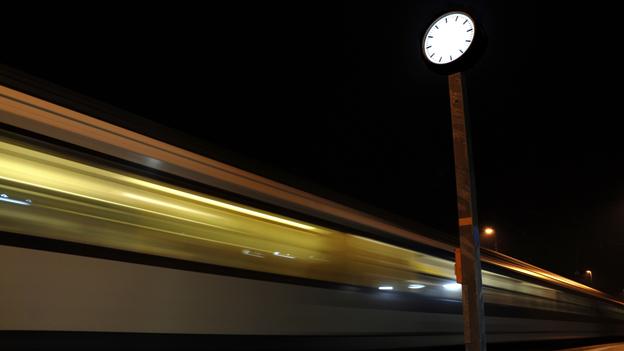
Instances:
[[[6,138],[0,139],[0,194],[4,232],[363,286],[383,294],[460,299],[450,260],[82,164]],[[541,279],[560,279],[528,271]],[[590,313],[583,296],[488,271],[483,282],[488,303]]]

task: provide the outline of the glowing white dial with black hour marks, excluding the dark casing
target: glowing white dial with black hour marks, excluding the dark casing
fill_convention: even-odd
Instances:
[[[474,21],[470,16],[463,12],[446,13],[427,29],[423,52],[432,63],[451,63],[468,51],[474,32]]]

